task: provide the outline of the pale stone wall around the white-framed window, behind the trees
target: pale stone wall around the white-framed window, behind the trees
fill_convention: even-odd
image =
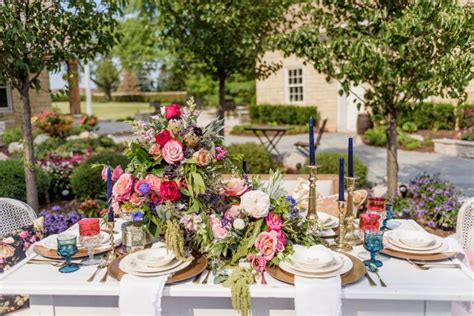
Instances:
[[[326,82],[323,75],[317,73],[310,64],[303,65],[303,60],[290,56],[283,58],[279,52],[267,52],[264,56],[267,63],[283,61],[283,67],[264,80],[257,80],[257,104],[287,104],[285,89],[285,71],[292,67],[303,68],[303,102],[295,105],[316,105],[321,118],[327,118],[326,128],[337,129],[338,86],[335,81]]]

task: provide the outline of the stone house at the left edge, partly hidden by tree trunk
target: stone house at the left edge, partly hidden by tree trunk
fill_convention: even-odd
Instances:
[[[49,75],[45,71],[39,76],[41,90],[30,90],[31,112],[49,109],[51,96],[49,93]],[[20,93],[6,82],[0,82],[0,134],[5,128],[21,126],[22,102]]]

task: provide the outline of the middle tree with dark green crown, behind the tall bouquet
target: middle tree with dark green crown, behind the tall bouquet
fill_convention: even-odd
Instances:
[[[282,23],[290,0],[160,0],[158,30],[163,47],[185,68],[219,81],[218,117],[224,119],[225,82],[229,76],[255,74],[271,49],[269,38]],[[258,74],[276,65],[259,64]],[[271,66],[271,67],[270,67]]]

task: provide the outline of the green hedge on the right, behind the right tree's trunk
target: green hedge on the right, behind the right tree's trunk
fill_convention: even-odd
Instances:
[[[452,130],[455,121],[454,106],[449,103],[420,103],[415,107],[405,106],[400,109],[398,117],[402,128],[406,123],[414,123],[419,129]]]

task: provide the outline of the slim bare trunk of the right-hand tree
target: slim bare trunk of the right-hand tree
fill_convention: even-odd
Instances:
[[[398,192],[398,159],[397,159],[397,117],[393,108],[386,114],[387,123],[387,197]]]

